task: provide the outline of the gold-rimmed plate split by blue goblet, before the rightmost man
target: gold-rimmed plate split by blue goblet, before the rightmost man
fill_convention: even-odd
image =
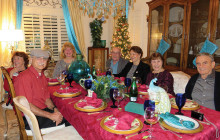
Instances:
[[[170,103],[171,103],[172,108],[178,109],[178,106],[176,105],[175,98],[171,98]],[[186,99],[186,103],[183,106],[182,110],[197,110],[199,108],[200,108],[200,106],[196,101]]]

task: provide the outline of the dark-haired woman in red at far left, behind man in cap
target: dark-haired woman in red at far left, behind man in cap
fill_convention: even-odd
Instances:
[[[11,62],[13,67],[8,68],[7,71],[9,73],[10,78],[12,81],[18,76],[18,74],[24,70],[27,69],[29,64],[28,55],[25,52],[14,52],[11,57]],[[12,104],[10,89],[9,89],[9,83],[7,79],[4,79],[4,89],[8,92],[8,101],[7,105],[10,103]]]

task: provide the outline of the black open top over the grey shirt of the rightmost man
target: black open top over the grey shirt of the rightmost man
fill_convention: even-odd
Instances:
[[[192,99],[192,91],[195,83],[199,77],[199,74],[193,75],[186,85],[185,94],[186,98]],[[215,85],[214,85],[214,103],[215,110],[220,111],[220,72],[215,72]]]

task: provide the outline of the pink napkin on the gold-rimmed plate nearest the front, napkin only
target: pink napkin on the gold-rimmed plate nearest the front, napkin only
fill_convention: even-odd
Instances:
[[[116,125],[116,130],[129,130],[135,118],[124,111],[121,112],[116,109],[115,111],[113,111],[113,116],[109,119],[110,120],[105,122],[106,126],[110,127]]]

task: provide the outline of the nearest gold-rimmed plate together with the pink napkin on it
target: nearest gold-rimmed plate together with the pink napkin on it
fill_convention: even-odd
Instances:
[[[100,125],[104,130],[114,134],[132,134],[143,128],[143,123],[139,119],[118,109],[113,115],[103,118]]]

